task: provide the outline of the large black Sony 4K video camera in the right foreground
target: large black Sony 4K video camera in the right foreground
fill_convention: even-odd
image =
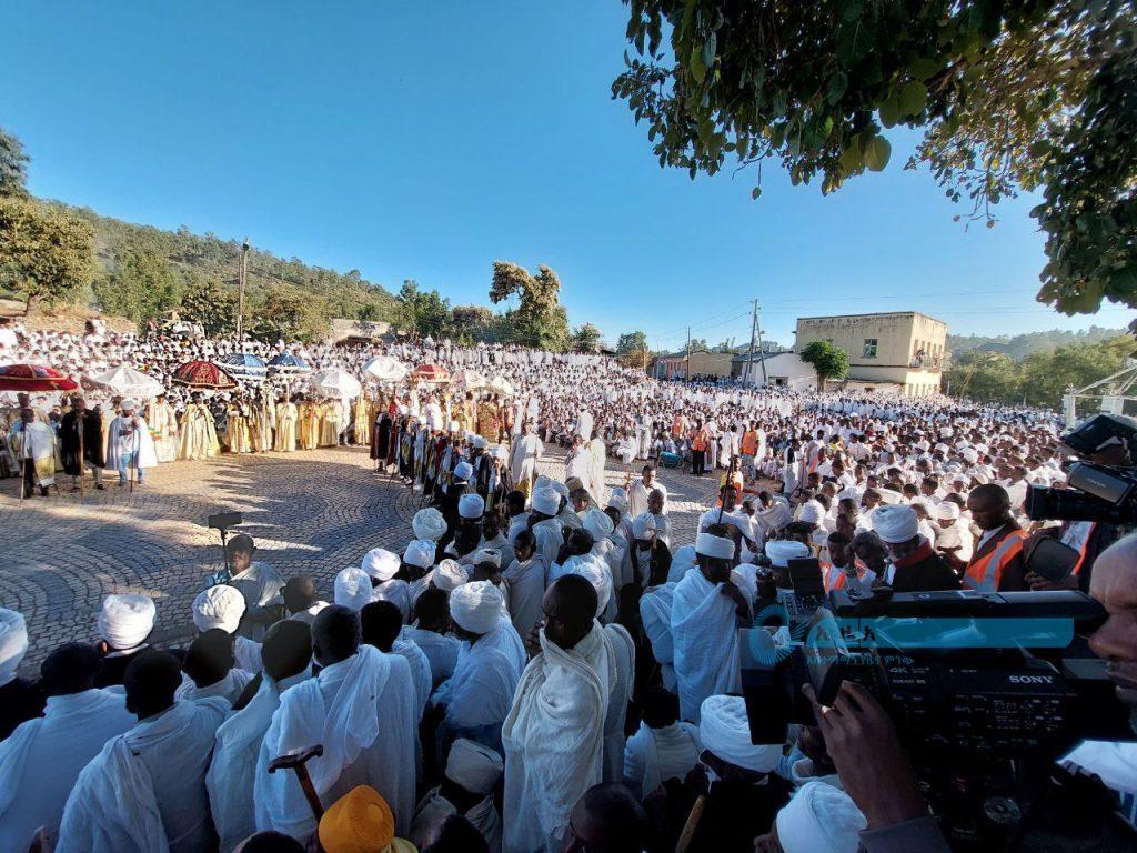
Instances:
[[[741,631],[752,740],[815,722],[805,684],[825,706],[855,681],[896,726],[953,847],[1007,846],[1080,740],[1137,739],[1105,662],[1082,651],[1104,611],[1081,593],[837,591],[829,603],[789,649],[763,628]]]

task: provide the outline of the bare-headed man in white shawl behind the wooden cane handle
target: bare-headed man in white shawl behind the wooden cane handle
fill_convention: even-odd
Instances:
[[[306,839],[316,828],[296,775],[268,773],[273,759],[314,744],[324,754],[307,769],[324,803],[370,785],[390,804],[399,835],[409,829],[417,743],[410,668],[398,655],[360,645],[359,633],[359,616],[347,607],[332,605],[316,616],[313,652],[323,669],[281,694],[257,759],[258,830]]]

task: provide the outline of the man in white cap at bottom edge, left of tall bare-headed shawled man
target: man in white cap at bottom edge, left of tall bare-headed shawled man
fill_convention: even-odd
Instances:
[[[505,762],[493,750],[466,738],[455,740],[442,784],[426,792],[415,809],[408,840],[424,850],[449,815],[460,814],[482,834],[490,853],[500,853],[501,819],[493,805],[493,788],[504,772]]]

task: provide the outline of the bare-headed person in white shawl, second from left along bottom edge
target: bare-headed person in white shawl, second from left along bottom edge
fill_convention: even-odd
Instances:
[[[229,703],[175,701],[177,659],[138,657],[126,707],[138,722],[107,742],[64,806],[56,853],[198,853],[214,844],[206,770]]]

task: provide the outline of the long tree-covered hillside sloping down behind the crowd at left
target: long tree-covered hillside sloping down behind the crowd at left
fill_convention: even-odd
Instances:
[[[65,207],[85,220],[94,229],[94,251],[99,278],[109,276],[119,258],[128,252],[146,252],[165,259],[185,285],[209,280],[235,293],[241,243],[223,240],[213,232],[193,234],[182,226],[164,231],[150,225],[100,216],[85,207]],[[395,318],[396,300],[385,288],[364,279],[358,270],[346,273],[312,266],[300,258],[284,259],[269,251],[250,247],[246,297],[251,304],[264,300],[266,295],[280,289],[304,293],[329,317],[352,320]],[[98,289],[97,289],[98,292]],[[172,300],[175,301],[176,300]],[[171,306],[175,307],[175,306]]]

